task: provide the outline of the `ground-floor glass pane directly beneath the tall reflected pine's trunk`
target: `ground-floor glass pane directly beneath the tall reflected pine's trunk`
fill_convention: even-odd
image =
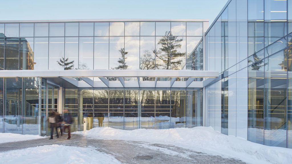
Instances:
[[[170,91],[155,91],[155,129],[170,128]]]

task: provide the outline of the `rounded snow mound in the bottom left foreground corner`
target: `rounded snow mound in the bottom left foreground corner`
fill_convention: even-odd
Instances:
[[[0,153],[0,163],[5,164],[120,164],[109,154],[90,147],[46,145]]]

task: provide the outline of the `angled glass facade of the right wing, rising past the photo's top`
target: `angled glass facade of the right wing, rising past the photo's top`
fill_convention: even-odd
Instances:
[[[227,2],[206,32],[206,126],[292,148],[291,15],[291,0]]]

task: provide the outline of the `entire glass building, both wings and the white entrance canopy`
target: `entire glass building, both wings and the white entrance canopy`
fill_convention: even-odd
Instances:
[[[206,20],[0,22],[0,132],[211,126],[292,148],[292,0],[229,0]],[[84,124],[85,121],[85,124]]]

